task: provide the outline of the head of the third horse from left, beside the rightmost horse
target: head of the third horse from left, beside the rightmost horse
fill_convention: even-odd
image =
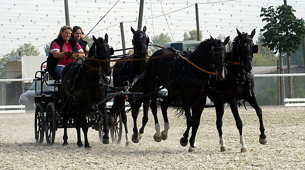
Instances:
[[[230,41],[230,36],[228,36],[224,42],[220,40],[215,40],[210,36],[210,41],[212,42],[212,49],[210,51],[211,54],[211,62],[213,66],[216,67],[217,70],[217,78],[219,80],[225,80],[227,75],[226,69],[226,60],[227,60],[227,51],[226,45]]]

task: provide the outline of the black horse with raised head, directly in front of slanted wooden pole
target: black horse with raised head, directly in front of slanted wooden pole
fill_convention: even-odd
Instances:
[[[146,69],[146,56],[149,38],[146,35],[146,26],[143,27],[143,30],[138,29],[135,31],[131,27],[131,31],[133,32],[133,50],[134,54],[131,57],[131,61],[121,61],[116,62],[114,64],[113,69],[113,86],[128,86],[130,92],[143,92],[143,76],[144,71]],[[133,60],[135,59],[135,60]],[[149,99],[139,99],[133,102],[132,96],[129,96],[129,101],[131,103],[132,108],[132,117],[134,120],[133,127],[133,135],[132,141],[134,143],[138,143],[141,134],[144,132],[144,126],[148,121],[148,107],[149,107]],[[143,103],[143,119],[142,119],[142,128],[140,128],[140,132],[138,133],[137,129],[137,117],[139,114],[139,109],[141,104]],[[114,97],[114,103],[112,108],[114,110],[119,111],[122,116],[122,121],[125,127],[126,133],[126,146],[130,145],[130,139],[128,135],[127,128],[127,116],[125,112],[125,98],[122,96]],[[140,135],[140,138],[139,138]]]

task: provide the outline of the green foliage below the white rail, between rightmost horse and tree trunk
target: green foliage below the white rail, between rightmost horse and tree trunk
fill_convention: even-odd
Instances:
[[[275,106],[278,105],[278,87],[265,88],[256,94],[259,106]]]

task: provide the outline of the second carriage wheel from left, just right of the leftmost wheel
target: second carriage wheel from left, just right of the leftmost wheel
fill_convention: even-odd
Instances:
[[[47,144],[53,145],[56,133],[56,112],[52,102],[47,106],[45,131]]]

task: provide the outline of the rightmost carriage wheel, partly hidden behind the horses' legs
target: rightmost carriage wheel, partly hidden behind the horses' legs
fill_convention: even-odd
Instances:
[[[111,118],[110,134],[113,144],[119,144],[122,139],[123,123],[121,114],[115,115]]]

